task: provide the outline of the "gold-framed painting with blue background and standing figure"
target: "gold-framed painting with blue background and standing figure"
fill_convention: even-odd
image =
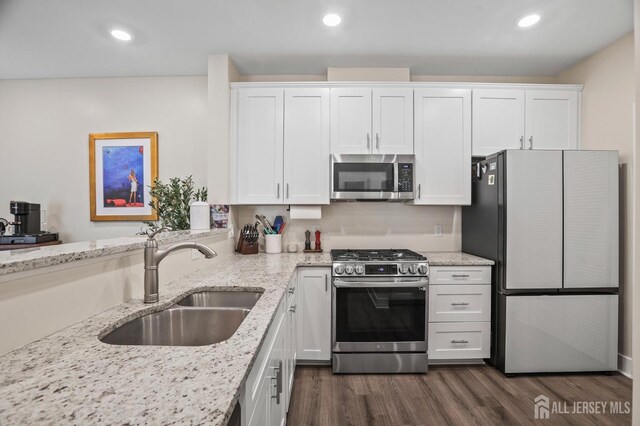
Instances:
[[[158,220],[149,206],[157,178],[157,132],[89,135],[92,221]]]

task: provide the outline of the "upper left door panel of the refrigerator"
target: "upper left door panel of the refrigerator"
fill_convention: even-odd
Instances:
[[[562,152],[507,151],[506,289],[562,287]]]

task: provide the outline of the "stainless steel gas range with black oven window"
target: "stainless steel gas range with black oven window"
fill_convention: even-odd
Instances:
[[[426,373],[427,258],[332,250],[334,373]]]

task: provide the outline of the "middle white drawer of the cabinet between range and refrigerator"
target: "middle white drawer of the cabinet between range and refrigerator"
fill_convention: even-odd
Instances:
[[[491,286],[429,286],[429,321],[491,321]]]

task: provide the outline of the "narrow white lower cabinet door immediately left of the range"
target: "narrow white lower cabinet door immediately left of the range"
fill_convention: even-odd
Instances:
[[[331,276],[329,268],[298,272],[298,359],[331,359]]]

